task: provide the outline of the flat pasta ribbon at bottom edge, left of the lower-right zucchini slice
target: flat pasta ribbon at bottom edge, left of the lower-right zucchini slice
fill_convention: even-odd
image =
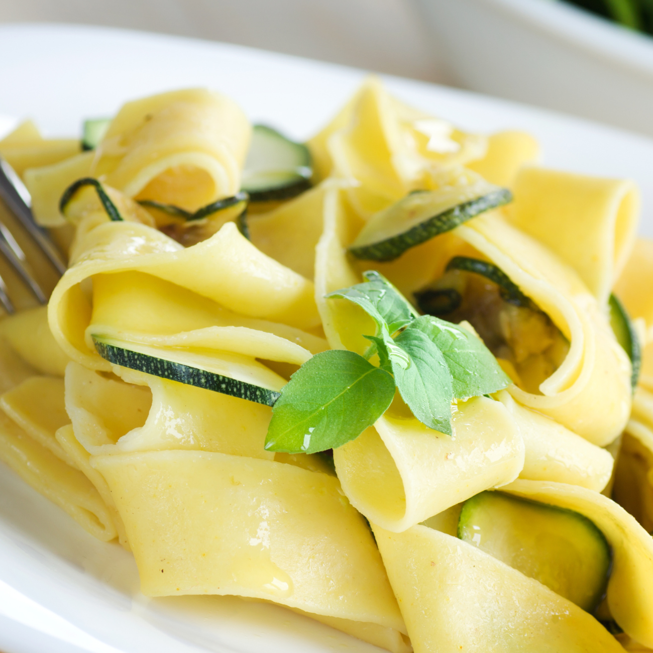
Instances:
[[[623,650],[591,614],[457,537],[373,528],[415,653]]]

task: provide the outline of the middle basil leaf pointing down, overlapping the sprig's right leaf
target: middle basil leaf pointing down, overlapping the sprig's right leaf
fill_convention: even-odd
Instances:
[[[394,382],[413,415],[429,428],[451,435],[453,388],[449,367],[430,334],[413,328],[422,318],[406,327],[388,347]],[[401,352],[393,351],[398,349]]]

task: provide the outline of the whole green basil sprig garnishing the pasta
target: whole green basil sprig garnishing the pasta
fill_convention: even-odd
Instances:
[[[362,308],[374,320],[365,356],[334,349],[293,374],[272,407],[265,448],[315,453],[357,438],[387,410],[395,389],[413,415],[451,435],[451,402],[511,383],[483,342],[466,329],[419,315],[378,272],[327,295]],[[370,362],[378,356],[379,366]]]

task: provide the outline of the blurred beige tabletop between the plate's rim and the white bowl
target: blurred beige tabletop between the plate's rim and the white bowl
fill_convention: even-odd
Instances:
[[[108,25],[445,81],[411,0],[0,0],[0,23]]]

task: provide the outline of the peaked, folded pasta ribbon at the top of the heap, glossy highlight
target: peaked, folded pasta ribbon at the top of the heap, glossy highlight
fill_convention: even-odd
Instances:
[[[407,106],[375,77],[308,146],[319,180],[351,180],[347,197],[363,218],[428,186],[434,172],[480,159],[486,150],[484,136]]]

